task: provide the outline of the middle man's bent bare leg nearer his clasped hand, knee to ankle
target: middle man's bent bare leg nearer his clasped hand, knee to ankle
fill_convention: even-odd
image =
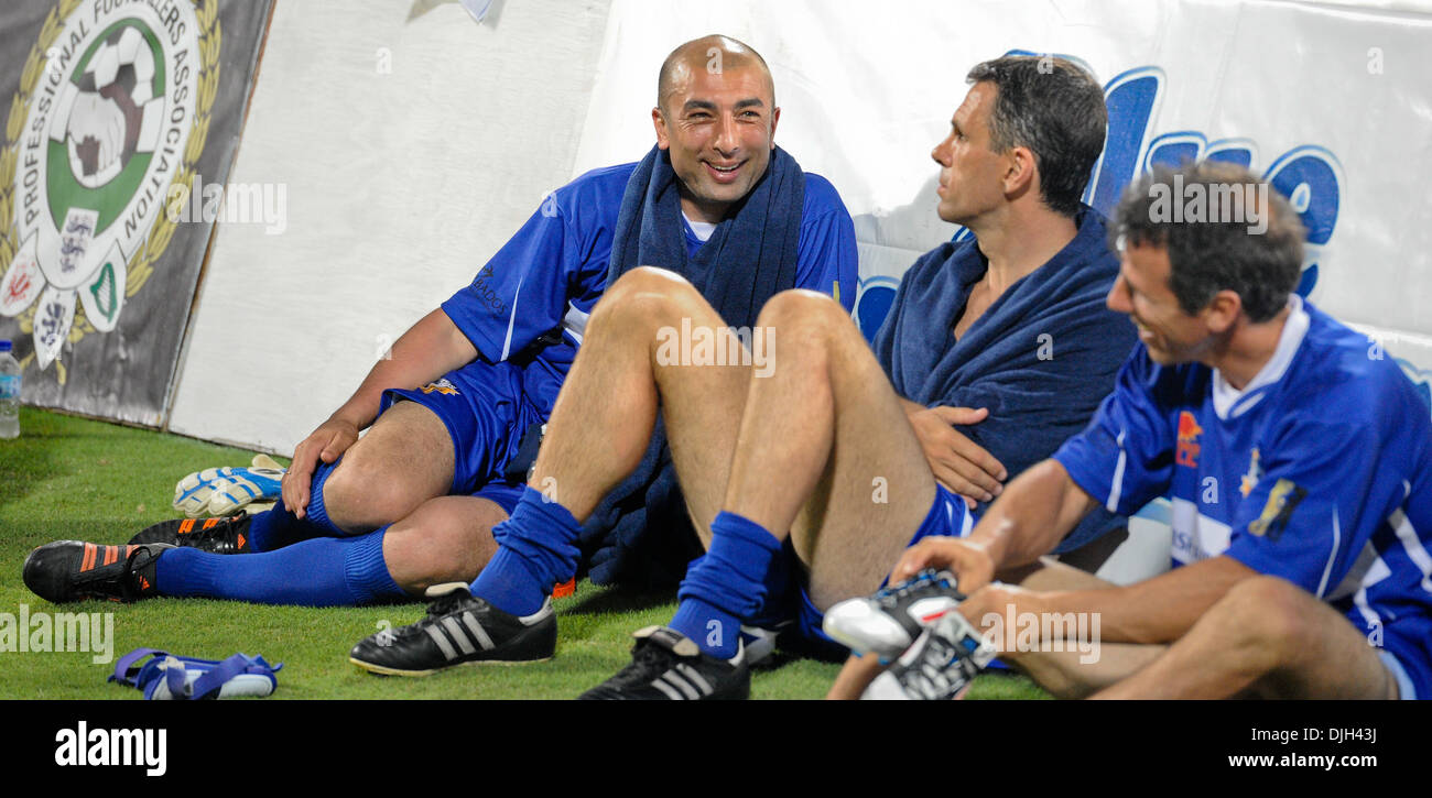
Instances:
[[[750,380],[723,508],[792,536],[819,609],[876,589],[935,498],[895,390],[845,309],[776,295],[775,366]]]

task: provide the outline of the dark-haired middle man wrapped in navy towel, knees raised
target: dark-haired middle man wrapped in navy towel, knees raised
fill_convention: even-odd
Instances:
[[[1008,69],[1032,73],[1037,61]],[[1065,84],[1100,113],[1035,124],[1101,137],[1101,90],[1067,69],[1060,63],[1055,80],[1080,77]],[[875,355],[843,307],[795,290],[768,302],[745,336],[748,355],[766,352],[768,363],[684,365],[667,349],[670,330],[709,330],[742,352],[732,319],[674,275],[623,276],[593,313],[530,479],[551,485],[556,501],[518,508],[471,591],[455,586],[457,599],[359,642],[352,659],[400,674],[487,659],[457,652],[451,632],[470,619],[507,659],[550,656],[550,636],[536,642],[536,631],[488,622],[500,618],[493,608],[527,612],[576,572],[579,522],[640,472],[659,415],[707,553],[686,571],[670,628],[637,632],[633,665],[587,698],[745,698],[740,628],[763,619],[796,618],[812,644],[838,649],[819,631],[821,608],[878,586],[912,536],[968,531],[955,492],[988,499],[1007,465],[1053,452],[1085,423],[1133,345],[1128,325],[1101,305],[1116,277],[1103,220],[1088,207],[1053,210],[1022,140],[994,149],[997,97],[992,83],[977,83],[932,153],[939,216],[975,240],[944,245],[911,269]],[[1095,142],[1064,167],[1087,177],[1098,152]],[[1057,355],[1041,356],[1040,335],[1058,340]]]

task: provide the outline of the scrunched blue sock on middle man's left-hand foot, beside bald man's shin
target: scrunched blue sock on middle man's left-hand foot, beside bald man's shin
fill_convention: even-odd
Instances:
[[[523,488],[511,518],[493,528],[497,553],[473,582],[473,595],[513,615],[537,612],[554,585],[577,573],[580,532],[567,508]]]

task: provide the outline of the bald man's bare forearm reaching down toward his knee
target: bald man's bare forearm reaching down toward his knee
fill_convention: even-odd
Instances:
[[[378,418],[384,390],[425,385],[475,358],[477,348],[453,319],[441,309],[432,310],[394,342],[392,358],[378,360],[332,418],[364,429]]]

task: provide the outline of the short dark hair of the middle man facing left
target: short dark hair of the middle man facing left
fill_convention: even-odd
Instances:
[[[975,64],[965,80],[1000,90],[990,114],[991,147],[1001,153],[1028,147],[1044,205],[1074,216],[1104,152],[1108,109],[1098,82],[1053,56],[1004,56]]]

